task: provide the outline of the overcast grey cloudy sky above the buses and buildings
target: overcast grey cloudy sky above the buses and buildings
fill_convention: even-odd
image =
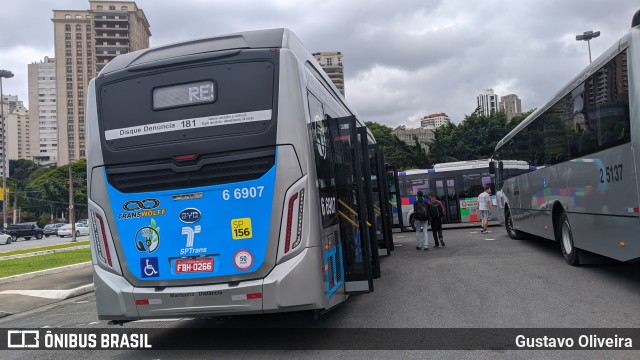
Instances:
[[[485,88],[542,105],[628,31],[629,0],[137,0],[151,45],[275,27],[292,29],[311,52],[344,55],[347,100],[366,120],[417,126],[446,112],[455,122]],[[87,0],[0,0],[4,93],[27,102],[27,64],[53,56],[53,9]]]

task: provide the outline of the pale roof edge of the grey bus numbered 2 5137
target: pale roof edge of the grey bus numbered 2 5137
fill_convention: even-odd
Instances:
[[[511,140],[517,133],[519,133],[522,129],[527,127],[531,122],[533,122],[538,116],[547,111],[551,106],[557,103],[562,97],[566,96],[569,92],[573,91],[578,85],[584,82],[589,76],[598,71],[602,65],[607,63],[613,57],[615,57],[618,53],[628,47],[629,43],[632,39],[637,39],[640,36],[640,28],[635,27],[632,28],[628,33],[626,33],[620,40],[614,43],[607,51],[602,53],[598,58],[593,60],[589,66],[587,66],[583,71],[581,71],[578,75],[576,75],[569,83],[567,83],[564,87],[562,87],[549,101],[547,101],[543,106],[539,107],[534,111],[531,115],[527,116],[518,126],[516,126],[511,132],[509,132],[502,140],[498,142],[495,147],[495,150],[501,148],[507,141]],[[635,40],[637,41],[637,40]]]

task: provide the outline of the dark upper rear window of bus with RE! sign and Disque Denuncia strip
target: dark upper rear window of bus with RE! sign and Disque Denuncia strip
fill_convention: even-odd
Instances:
[[[100,86],[99,118],[110,148],[250,134],[271,125],[270,61],[206,64]]]

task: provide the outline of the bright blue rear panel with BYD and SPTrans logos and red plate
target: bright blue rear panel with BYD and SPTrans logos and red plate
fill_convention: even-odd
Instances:
[[[132,274],[155,281],[256,271],[267,252],[276,168],[256,180],[157,192],[125,194],[107,184]],[[213,259],[211,269],[177,271],[178,259],[202,257]]]

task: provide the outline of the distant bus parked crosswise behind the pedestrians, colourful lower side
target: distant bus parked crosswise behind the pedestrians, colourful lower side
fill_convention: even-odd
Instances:
[[[457,161],[436,164],[432,169],[400,171],[398,182],[402,220],[414,230],[413,203],[420,190],[425,196],[433,192],[442,201],[446,213],[444,223],[479,221],[476,213],[478,195],[484,191],[484,186],[491,186],[493,191],[489,160]],[[495,196],[492,195],[492,199],[495,200]]]

